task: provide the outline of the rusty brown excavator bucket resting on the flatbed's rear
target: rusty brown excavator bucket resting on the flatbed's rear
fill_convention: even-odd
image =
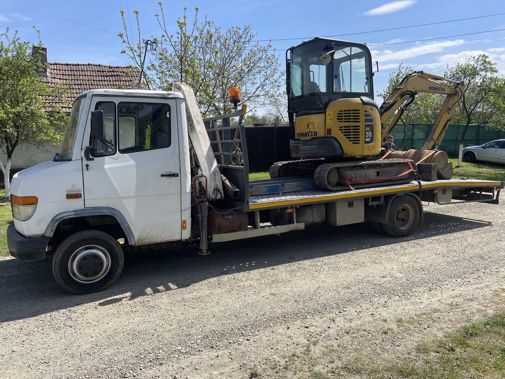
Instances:
[[[416,162],[417,171],[423,180],[452,178],[452,163],[444,151],[416,149],[393,151],[384,160],[395,158],[411,159]]]

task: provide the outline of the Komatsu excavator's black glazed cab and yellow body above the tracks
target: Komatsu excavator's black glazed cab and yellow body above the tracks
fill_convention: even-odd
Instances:
[[[286,51],[293,158],[356,158],[380,153],[381,119],[373,100],[366,45],[314,38]]]

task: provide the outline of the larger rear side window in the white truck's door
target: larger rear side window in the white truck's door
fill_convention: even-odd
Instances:
[[[167,148],[171,144],[168,104],[118,104],[119,152],[134,153]]]

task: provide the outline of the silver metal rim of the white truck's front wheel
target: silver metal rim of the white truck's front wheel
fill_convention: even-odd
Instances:
[[[70,276],[79,283],[94,283],[111,269],[111,255],[103,247],[83,246],[72,253],[68,261]]]

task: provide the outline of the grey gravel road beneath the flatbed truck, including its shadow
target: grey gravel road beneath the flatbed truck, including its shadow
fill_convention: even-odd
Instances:
[[[505,287],[505,206],[425,211],[403,239],[319,226],[205,257],[128,254],[111,289],[82,296],[60,290],[49,259],[0,260],[0,377],[240,378],[314,336],[345,344],[338,336],[364,338],[381,319],[485,310],[479,299]]]

